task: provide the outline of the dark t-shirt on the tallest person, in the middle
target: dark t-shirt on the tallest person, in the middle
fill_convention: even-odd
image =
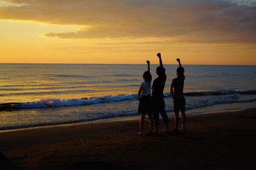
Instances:
[[[154,89],[154,94],[153,97],[159,98],[159,97],[164,97],[164,85],[165,85],[165,81],[166,81],[166,74],[164,74],[163,76],[159,76],[157,77],[154,81],[153,81],[153,85],[152,85],[152,89]]]

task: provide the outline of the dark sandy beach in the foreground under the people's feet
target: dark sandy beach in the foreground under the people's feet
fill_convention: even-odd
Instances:
[[[187,129],[138,138],[138,121],[127,121],[1,132],[0,169],[256,169],[256,109],[188,117]]]

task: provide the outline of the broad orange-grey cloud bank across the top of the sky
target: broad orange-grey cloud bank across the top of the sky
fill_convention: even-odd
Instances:
[[[256,7],[229,1],[10,2],[26,5],[0,6],[0,18],[81,25],[76,32],[45,34],[49,38],[167,37],[173,42],[256,43]]]

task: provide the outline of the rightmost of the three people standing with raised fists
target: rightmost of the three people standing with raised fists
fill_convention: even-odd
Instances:
[[[185,131],[185,124],[186,124],[186,115],[185,115],[185,106],[186,106],[186,99],[183,94],[184,89],[184,68],[180,64],[180,59],[177,59],[179,62],[179,67],[177,68],[176,74],[177,78],[173,78],[172,85],[171,85],[171,96],[173,99],[173,111],[174,111],[174,128],[172,131]],[[182,115],[182,125],[180,129],[179,126],[179,111]]]

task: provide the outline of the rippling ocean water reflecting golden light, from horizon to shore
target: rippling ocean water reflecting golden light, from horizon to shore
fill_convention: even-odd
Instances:
[[[157,65],[151,66],[156,78]],[[166,111],[177,65],[164,65]],[[0,130],[137,114],[146,64],[0,64]],[[184,65],[186,109],[256,102],[256,66]],[[231,106],[231,105],[230,105]]]

